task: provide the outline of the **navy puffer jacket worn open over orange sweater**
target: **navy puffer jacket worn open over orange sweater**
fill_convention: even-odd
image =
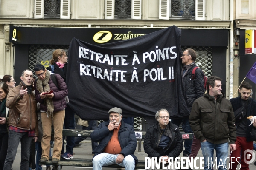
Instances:
[[[103,122],[99,124],[99,126],[93,131],[93,133],[90,134],[90,138],[93,140],[93,142],[99,142],[94,156],[103,152],[113,135],[113,130],[108,130],[108,124],[109,122]],[[134,133],[133,126],[126,124],[124,121],[122,121],[121,127],[118,131],[118,140],[122,149],[121,154],[123,156],[131,155],[134,158],[135,164],[137,164],[138,159],[134,155],[137,147],[137,139]]]

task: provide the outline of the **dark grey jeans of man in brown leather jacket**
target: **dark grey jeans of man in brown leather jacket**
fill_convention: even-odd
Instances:
[[[20,169],[29,169],[30,147],[33,137],[29,137],[27,132],[15,132],[9,130],[9,142],[7,156],[4,162],[4,170],[11,170],[13,161],[17,153],[19,144],[21,143],[21,162]]]

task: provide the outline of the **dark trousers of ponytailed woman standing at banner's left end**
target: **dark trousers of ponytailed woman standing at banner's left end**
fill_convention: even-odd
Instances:
[[[74,117],[75,117],[74,112],[72,111],[70,106],[67,105],[67,108],[65,109],[65,118],[64,118],[64,127],[65,127],[65,129],[75,129],[75,127],[74,127]],[[64,137],[65,136],[63,136],[63,141],[64,141]],[[70,153],[71,155],[73,155],[73,147],[74,147],[75,137],[67,136],[66,142],[67,142],[66,152]],[[64,142],[62,142],[61,153],[62,154],[65,153]]]

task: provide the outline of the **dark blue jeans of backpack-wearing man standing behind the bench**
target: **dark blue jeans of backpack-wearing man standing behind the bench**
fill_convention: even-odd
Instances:
[[[181,119],[172,119],[171,121],[174,125],[180,126],[180,123],[182,122],[182,129],[185,133],[193,133],[190,125],[189,125],[189,117],[181,118]],[[184,141],[184,148],[183,155],[190,155],[191,153],[191,146],[192,146],[193,140],[185,140]]]

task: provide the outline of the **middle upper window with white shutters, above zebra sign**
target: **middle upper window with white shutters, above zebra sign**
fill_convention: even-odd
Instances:
[[[141,0],[105,0],[105,19],[141,19]]]

